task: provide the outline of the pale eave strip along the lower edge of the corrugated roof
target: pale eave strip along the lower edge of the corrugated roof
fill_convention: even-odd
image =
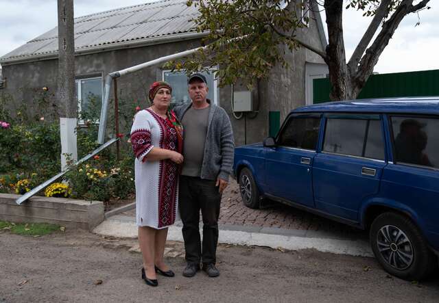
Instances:
[[[154,37],[154,38],[145,38],[145,39],[117,42],[117,43],[111,43],[111,44],[105,44],[105,45],[96,45],[93,47],[86,47],[84,49],[76,49],[75,56],[90,55],[93,53],[101,53],[103,51],[116,51],[118,49],[130,49],[133,47],[147,47],[149,45],[155,45],[155,44],[163,44],[163,43],[169,43],[169,42],[192,40],[192,39],[196,39],[196,38],[203,38],[203,37],[207,36],[208,34],[209,33],[206,31],[201,32],[201,33],[192,31],[189,33],[171,34],[171,35]],[[53,59],[58,59],[58,51],[54,51],[52,53],[42,53],[42,54],[38,54],[38,55],[28,55],[28,56],[23,56],[23,57],[6,58],[3,60],[0,59],[0,64],[2,66],[7,66],[7,65],[12,65],[12,64],[22,64],[22,63],[29,63],[29,62],[36,62],[36,61],[43,61],[43,60],[53,60]]]

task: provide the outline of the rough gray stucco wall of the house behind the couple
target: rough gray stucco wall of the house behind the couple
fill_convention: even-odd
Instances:
[[[299,31],[298,37],[306,39],[308,43],[322,49],[313,18],[311,18],[309,27],[299,29]],[[96,75],[104,77],[112,71],[141,64],[164,55],[192,49],[199,45],[200,40],[186,40],[80,55],[75,57],[75,75],[76,77],[94,77]],[[243,118],[237,120],[231,113],[232,91],[230,86],[219,88],[219,105],[224,107],[230,116],[237,146],[244,143],[260,142],[268,136],[269,111],[280,111],[282,121],[291,109],[305,105],[305,63],[321,63],[322,60],[305,49],[298,49],[293,53],[287,51],[286,59],[290,62],[289,68],[275,66],[270,72],[270,77],[267,80],[260,81],[259,90],[254,88],[252,96],[255,107],[259,109],[257,113],[246,114]],[[51,112],[51,114],[47,114],[47,118],[55,120],[62,112],[62,103],[56,101],[55,98],[57,70],[58,60],[56,59],[5,65],[3,66],[3,77],[7,78],[7,86],[5,89],[0,90],[0,97],[2,94],[3,96],[12,96],[11,100],[13,102],[11,101],[8,104],[12,114],[16,114],[16,111],[21,108],[32,116],[37,114],[38,106],[43,105],[44,109],[49,109]],[[147,103],[148,87],[150,83],[161,79],[161,77],[161,66],[155,66],[118,78],[120,107],[125,107],[128,112],[133,110],[133,114],[134,107],[137,105],[147,107],[149,105]],[[43,92],[43,87],[49,88],[49,91]],[[235,90],[238,89],[239,86],[236,86]],[[110,98],[113,98],[113,96],[111,95]],[[258,103],[259,106],[257,106]],[[25,105],[24,108],[23,105]],[[114,111],[113,106],[113,103],[111,103],[109,107],[110,116]],[[130,118],[121,121],[121,129],[128,129],[129,131],[132,122]],[[108,124],[109,134],[112,133],[112,127]]]

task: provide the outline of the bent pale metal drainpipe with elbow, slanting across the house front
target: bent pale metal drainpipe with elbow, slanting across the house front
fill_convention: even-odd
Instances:
[[[132,66],[129,68],[125,68],[123,70],[118,70],[117,72],[109,73],[105,77],[104,84],[104,100],[102,100],[102,109],[101,109],[101,118],[99,120],[99,132],[97,133],[97,143],[103,144],[105,137],[105,130],[107,126],[107,116],[108,116],[108,100],[110,99],[110,90],[111,90],[111,81],[112,79],[116,79],[123,75],[128,75],[130,73],[137,72],[137,70],[141,70],[143,68],[147,68],[149,66],[153,66],[156,64],[160,64],[163,62],[168,62],[169,60],[174,60],[180,57],[186,57],[187,55],[191,55],[197,51],[205,49],[205,47],[198,47],[196,49],[189,49],[188,51],[182,51],[180,53],[174,53],[173,55],[167,55],[165,57],[160,57],[158,59],[154,59],[152,61],[148,61],[136,66]]]

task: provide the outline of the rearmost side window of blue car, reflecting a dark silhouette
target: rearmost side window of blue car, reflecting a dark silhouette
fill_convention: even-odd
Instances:
[[[394,160],[439,168],[439,119],[391,116]]]

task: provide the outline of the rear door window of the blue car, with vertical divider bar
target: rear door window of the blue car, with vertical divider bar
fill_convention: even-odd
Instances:
[[[323,150],[383,160],[381,120],[328,118]]]

